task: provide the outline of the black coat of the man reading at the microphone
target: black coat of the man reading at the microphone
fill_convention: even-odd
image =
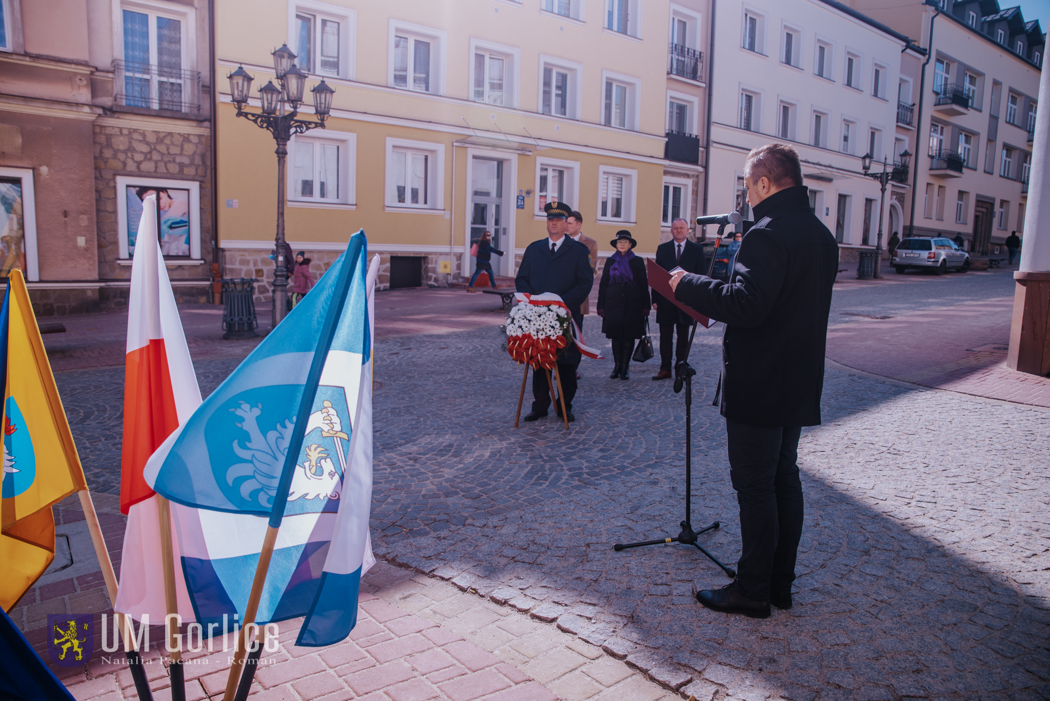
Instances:
[[[820,424],[835,236],[789,187],[755,207],[730,283],[686,275],[675,298],[726,323],[721,414],[766,427]]]

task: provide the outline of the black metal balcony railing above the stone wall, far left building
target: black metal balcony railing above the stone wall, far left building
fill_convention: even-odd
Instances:
[[[201,111],[201,73],[113,61],[113,99],[126,107]]]

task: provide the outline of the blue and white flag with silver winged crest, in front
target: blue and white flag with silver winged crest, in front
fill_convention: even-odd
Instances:
[[[146,465],[146,481],[172,502],[202,623],[244,622],[268,525],[279,531],[255,622],[308,616],[307,644],[335,642],[356,623],[358,582],[374,561],[369,306],[378,261],[369,268],[366,248],[364,232],[354,234]],[[206,511],[180,518],[181,506]]]

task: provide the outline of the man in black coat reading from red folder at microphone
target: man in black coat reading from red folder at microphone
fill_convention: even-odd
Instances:
[[[715,403],[726,417],[742,549],[736,581],[696,599],[766,618],[771,602],[792,606],[803,513],[798,439],[801,427],[820,424],[838,245],[810,209],[794,148],[759,146],[743,172],[756,222],[730,282],[679,271],[671,288],[678,302],[726,323]]]

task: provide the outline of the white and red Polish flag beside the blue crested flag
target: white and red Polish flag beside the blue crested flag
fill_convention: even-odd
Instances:
[[[186,334],[171,291],[158,239],[156,195],[143,202],[128,295],[128,345],[124,375],[124,446],[121,453],[121,511],[128,516],[114,611],[160,623],[167,614],[161,556],[160,497],[142,470],[181,424],[201,405]],[[193,512],[178,504],[175,510]],[[190,516],[191,514],[187,514]],[[194,621],[186,592],[178,540],[171,533],[175,591],[183,622]]]

